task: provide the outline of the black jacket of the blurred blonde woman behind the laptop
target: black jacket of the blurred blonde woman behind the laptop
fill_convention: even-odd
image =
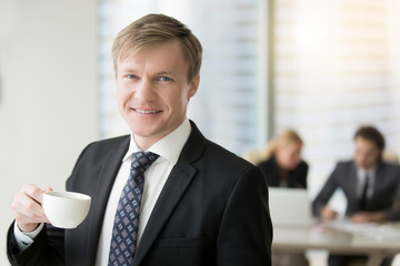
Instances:
[[[279,165],[277,157],[272,155],[267,161],[263,161],[258,164],[258,166],[263,172],[268,186],[279,186]],[[292,171],[288,172],[288,187],[293,188],[307,188],[307,173],[308,164],[304,161],[301,161],[300,164]]]

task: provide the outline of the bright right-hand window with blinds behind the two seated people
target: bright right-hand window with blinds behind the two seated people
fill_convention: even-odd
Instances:
[[[399,11],[398,1],[276,1],[274,130],[304,139],[313,192],[352,156],[362,124],[400,152]]]

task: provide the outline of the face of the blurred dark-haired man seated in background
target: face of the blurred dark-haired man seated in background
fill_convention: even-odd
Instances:
[[[374,167],[381,155],[381,151],[379,150],[379,147],[372,141],[362,139],[360,136],[356,137],[354,144],[356,144],[356,154],[354,154],[356,164],[364,170],[370,170]]]

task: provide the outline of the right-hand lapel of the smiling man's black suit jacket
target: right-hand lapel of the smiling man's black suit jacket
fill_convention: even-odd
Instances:
[[[191,127],[192,133],[183,146],[178,163],[168,176],[144,228],[133,258],[133,266],[140,265],[197,173],[197,168],[191,163],[203,153],[206,139],[192,122]]]

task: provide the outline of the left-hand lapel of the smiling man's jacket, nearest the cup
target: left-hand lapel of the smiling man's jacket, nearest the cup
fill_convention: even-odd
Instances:
[[[111,188],[113,186],[113,182],[121,166],[122,158],[128,151],[129,140],[129,136],[127,136],[127,139],[124,139],[114,151],[108,154],[107,158],[102,164],[101,175],[99,176],[96,184],[96,201],[92,201],[92,207],[90,212],[89,225],[91,226],[91,228],[88,229],[88,254],[91,255],[90,265],[94,265],[96,262],[99,237],[101,233],[102,222],[104,218],[107,203]]]

